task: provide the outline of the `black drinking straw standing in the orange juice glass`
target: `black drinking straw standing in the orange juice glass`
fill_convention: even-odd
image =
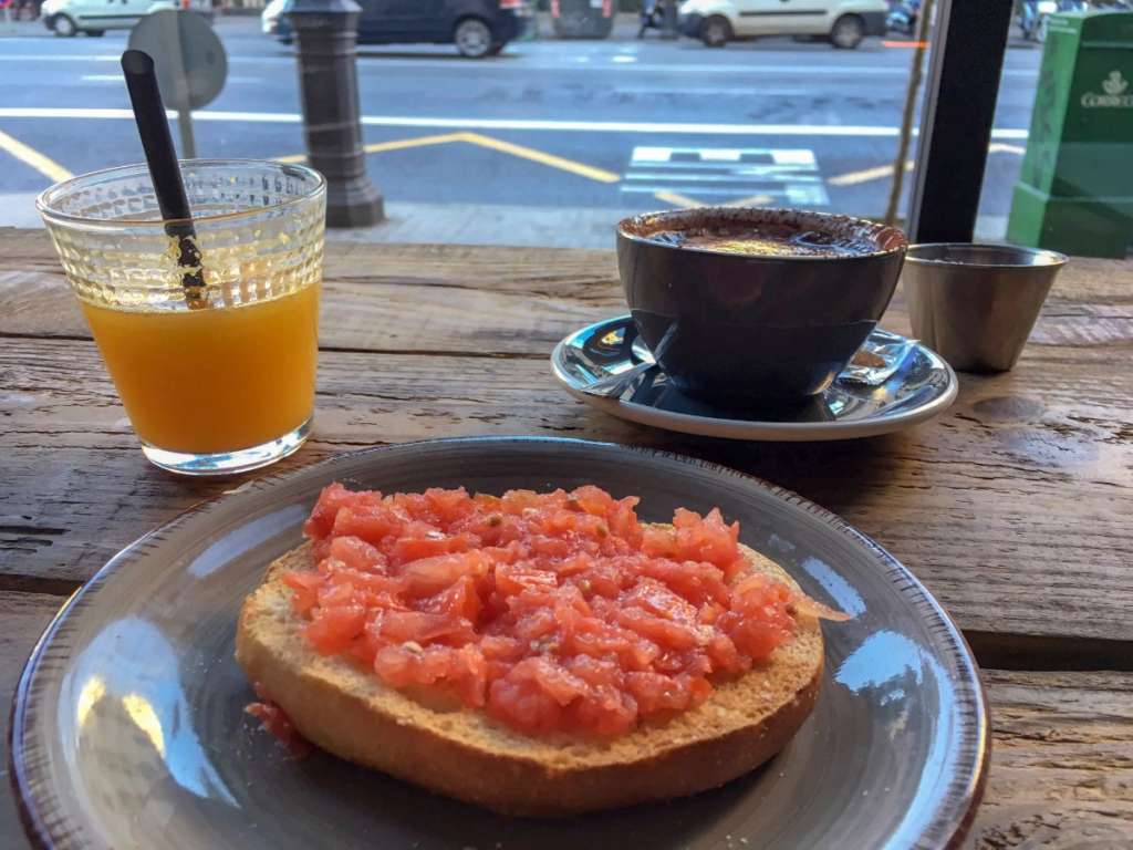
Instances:
[[[177,240],[178,265],[186,269],[181,286],[193,292],[205,284],[201,273],[201,250],[193,229],[189,199],[185,195],[185,184],[181,182],[181,169],[177,164],[173,137],[169,133],[165,107],[157,88],[153,58],[140,50],[127,50],[122,53],[122,74],[130,93],[134,120],[142,137],[153,190],[157,196],[157,209],[165,221],[165,232]],[[199,292],[196,296],[199,297]]]

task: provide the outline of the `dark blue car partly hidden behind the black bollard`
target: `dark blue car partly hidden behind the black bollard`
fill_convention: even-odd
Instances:
[[[531,17],[527,0],[358,0],[359,44],[455,44],[462,56],[495,56],[523,34]],[[295,37],[287,10],[275,37]]]

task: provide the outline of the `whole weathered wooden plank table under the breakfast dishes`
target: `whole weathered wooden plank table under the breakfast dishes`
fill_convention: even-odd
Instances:
[[[281,467],[376,443],[562,434],[791,487],[920,576],[979,657],[994,751],[969,845],[1133,847],[1133,264],[1075,260],[1014,372],[962,375],[936,422],[854,442],[689,437],[571,399],[552,345],[623,309],[606,252],[332,244],[315,434]],[[900,296],[884,324],[908,332]],[[67,594],[231,484],[145,461],[42,232],[0,230],[0,341],[8,700]],[[0,847],[25,847],[7,798]]]

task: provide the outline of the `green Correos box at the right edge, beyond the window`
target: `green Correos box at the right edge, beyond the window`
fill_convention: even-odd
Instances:
[[[1126,256],[1133,243],[1133,12],[1050,17],[1007,239]]]

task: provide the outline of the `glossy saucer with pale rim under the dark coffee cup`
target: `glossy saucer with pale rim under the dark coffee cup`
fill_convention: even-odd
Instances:
[[[867,347],[884,350],[902,339],[875,331]],[[843,373],[813,400],[790,410],[735,411],[690,399],[670,386],[658,369],[646,373],[619,398],[582,391],[649,357],[630,316],[616,316],[576,331],[551,354],[555,377],[572,396],[622,419],[668,431],[730,440],[849,440],[900,431],[937,416],[956,398],[956,375],[944,359],[913,342],[900,367],[870,384]]]

